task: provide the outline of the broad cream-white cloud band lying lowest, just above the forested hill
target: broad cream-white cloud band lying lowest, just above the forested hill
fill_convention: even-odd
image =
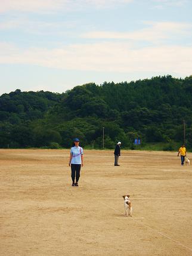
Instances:
[[[162,46],[133,49],[129,44],[74,44],[63,48],[29,48],[0,44],[1,64],[33,64],[64,70],[177,73],[192,70],[192,47]],[[139,76],[139,75],[138,75]]]

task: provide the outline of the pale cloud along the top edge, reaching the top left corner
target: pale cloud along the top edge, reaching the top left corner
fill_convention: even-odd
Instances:
[[[83,8],[113,8],[133,0],[6,0],[1,2],[0,13],[7,11],[47,12],[54,10],[79,10]]]

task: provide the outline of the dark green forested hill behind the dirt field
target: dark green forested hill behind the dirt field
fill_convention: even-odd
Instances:
[[[186,122],[192,149],[192,76],[155,77],[119,84],[86,84],[63,94],[21,92],[0,97],[0,147],[70,147],[78,137],[83,146],[113,148],[116,141],[131,147],[178,141]],[[58,143],[58,144],[57,144]]]

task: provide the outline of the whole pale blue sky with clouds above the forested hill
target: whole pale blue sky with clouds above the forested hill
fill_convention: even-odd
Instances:
[[[192,75],[192,0],[0,2],[0,95]]]

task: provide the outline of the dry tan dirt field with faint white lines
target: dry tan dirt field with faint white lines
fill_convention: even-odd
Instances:
[[[192,255],[192,165],[176,155],[122,150],[114,166],[84,150],[72,187],[69,150],[1,149],[0,255]]]

